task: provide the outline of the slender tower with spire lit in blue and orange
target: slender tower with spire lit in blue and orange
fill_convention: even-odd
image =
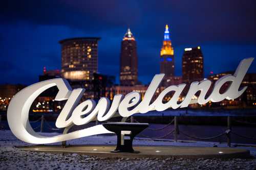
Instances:
[[[160,73],[165,74],[165,78],[174,75],[174,48],[170,41],[170,32],[168,25],[165,26],[164,40],[160,52]]]

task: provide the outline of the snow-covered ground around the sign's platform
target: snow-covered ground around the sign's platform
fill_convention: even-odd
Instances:
[[[57,133],[41,133],[54,136]],[[68,144],[115,144],[116,136],[97,135],[74,139]],[[56,143],[54,143],[56,144]],[[60,144],[60,143],[57,143]],[[243,146],[250,150],[251,159],[109,159],[78,154],[49,154],[25,152],[14,146],[31,145],[20,141],[9,130],[0,130],[0,169],[255,169],[256,147]],[[136,138],[134,145],[177,145],[191,147],[226,147],[226,143],[203,141],[151,140]]]

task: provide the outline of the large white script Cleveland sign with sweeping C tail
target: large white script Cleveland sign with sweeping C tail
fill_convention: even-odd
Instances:
[[[19,91],[11,100],[7,111],[8,124],[12,133],[17,138],[25,142],[36,144],[53,143],[84,136],[112,133],[106,130],[102,125],[96,125],[68,134],[61,134],[53,137],[42,136],[32,129],[29,123],[29,110],[37,96],[53,86],[57,86],[59,89],[55,98],[56,101],[68,100],[56,120],[56,127],[58,128],[65,128],[72,124],[87,124],[96,117],[99,121],[105,121],[113,117],[117,111],[121,116],[127,117],[135,113],[146,113],[151,110],[163,111],[170,107],[173,109],[177,109],[179,107],[183,108],[187,107],[191,103],[199,103],[202,105],[209,101],[220,102],[224,99],[236,99],[247,88],[242,87],[240,89],[239,87],[252,61],[253,58],[242,60],[234,75],[226,75],[220,78],[215,83],[214,89],[207,99],[205,99],[205,95],[211,86],[211,81],[203,80],[201,82],[191,83],[184,100],[180,104],[177,104],[177,102],[186,84],[167,87],[159,94],[158,98],[150,104],[155,91],[164,77],[164,74],[154,76],[142,101],[139,92],[130,92],[125,96],[117,94],[114,96],[111,106],[108,98],[101,98],[97,105],[93,100],[87,100],[79,104],[85,89],[77,88],[72,90],[65,79],[59,78],[35,83]],[[220,88],[226,82],[231,82],[231,84],[229,88],[221,94]],[[164,96],[170,91],[175,92],[172,99],[167,103],[162,103]],[[197,91],[200,91],[198,99],[196,101],[192,100]],[[132,107],[133,109],[131,109]]]

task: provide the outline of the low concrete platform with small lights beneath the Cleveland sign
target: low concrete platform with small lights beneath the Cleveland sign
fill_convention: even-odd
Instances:
[[[44,145],[31,147],[18,147],[23,151],[46,152],[46,153],[77,153],[96,157],[108,158],[248,158],[250,152],[237,148],[215,147],[134,147],[140,153],[111,153],[115,146],[111,145],[72,145],[67,148],[60,146]]]

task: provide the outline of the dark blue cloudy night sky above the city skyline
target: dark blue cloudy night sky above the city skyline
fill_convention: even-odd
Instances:
[[[159,73],[165,24],[181,76],[185,47],[201,46],[205,77],[234,70],[256,57],[256,1],[2,1],[0,83],[32,84],[44,66],[61,68],[59,40],[101,37],[101,74],[119,79],[120,45],[127,27],[137,40],[139,80]],[[256,72],[256,61],[250,72]],[[119,81],[117,81],[118,83]]]

